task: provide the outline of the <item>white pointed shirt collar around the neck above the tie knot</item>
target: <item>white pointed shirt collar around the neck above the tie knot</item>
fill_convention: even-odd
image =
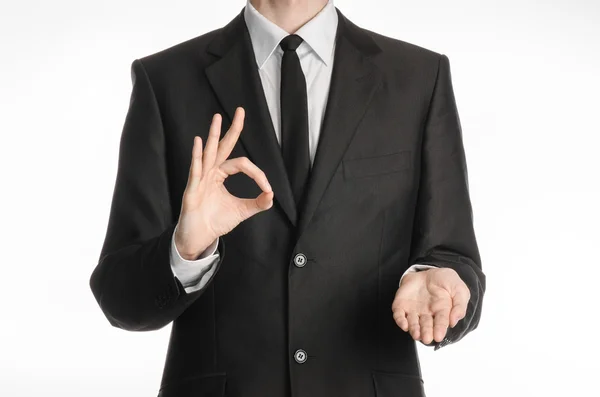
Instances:
[[[273,52],[275,52],[279,46],[279,42],[288,33],[259,13],[250,4],[250,0],[247,0],[246,7],[244,8],[244,19],[250,33],[256,63],[260,69]],[[310,21],[298,29],[295,34],[302,37],[304,42],[309,45],[321,61],[325,65],[328,65],[332,58],[337,24],[338,15],[333,5],[333,0],[329,0],[327,5]]]

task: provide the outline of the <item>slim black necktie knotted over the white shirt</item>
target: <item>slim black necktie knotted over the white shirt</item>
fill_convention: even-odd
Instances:
[[[308,102],[306,79],[296,48],[302,38],[295,34],[281,40],[281,152],[298,211],[310,173],[308,151]]]

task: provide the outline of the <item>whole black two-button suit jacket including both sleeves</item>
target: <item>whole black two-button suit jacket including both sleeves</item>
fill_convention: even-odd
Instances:
[[[471,290],[466,318],[443,344],[479,322],[485,277],[448,58],[338,15],[302,213],[243,14],[132,64],[110,219],[90,284],[115,327],[173,322],[159,396],[423,396],[416,343],[391,312],[414,263],[451,267]],[[169,249],[193,137],[206,142],[217,112],[225,131],[237,106],[246,121],[231,157],[265,171],[275,203],[221,237],[217,271],[188,294]],[[225,186],[239,197],[260,193],[243,174]],[[303,267],[294,265],[299,253]],[[306,362],[294,360],[297,349]]]

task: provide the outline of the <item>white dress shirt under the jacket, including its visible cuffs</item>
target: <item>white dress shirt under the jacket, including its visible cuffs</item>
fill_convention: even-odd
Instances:
[[[250,40],[256,64],[267,100],[273,128],[277,141],[281,145],[281,111],[280,111],[280,81],[281,58],[283,50],[279,42],[288,32],[269,21],[260,14],[250,1],[244,9],[244,19],[250,33]],[[335,35],[338,15],[330,0],[314,18],[298,29],[295,34],[302,37],[303,42],[296,49],[300,66],[306,78],[308,99],[308,146],[311,164],[314,162],[321,132],[321,124],[327,105],[327,95],[333,70],[335,50]],[[177,230],[177,229],[175,229]],[[208,247],[197,260],[185,260],[175,246],[175,233],[171,243],[171,269],[179,279],[186,292],[201,289],[212,276],[219,259],[217,251],[218,239]],[[432,266],[413,265],[408,272],[418,271]],[[406,273],[405,273],[406,274]],[[404,275],[403,275],[404,277]],[[400,279],[402,280],[402,278]]]

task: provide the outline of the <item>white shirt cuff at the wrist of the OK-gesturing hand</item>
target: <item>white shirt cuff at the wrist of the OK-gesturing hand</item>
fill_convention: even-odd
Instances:
[[[171,238],[171,271],[181,282],[185,291],[191,293],[202,289],[213,275],[216,269],[216,266],[214,265],[219,260],[219,252],[217,251],[219,239],[217,238],[213,241],[213,243],[200,254],[198,259],[187,260],[182,258],[177,250],[177,245],[175,244],[175,231],[177,231],[177,226],[175,227],[173,237]]]

